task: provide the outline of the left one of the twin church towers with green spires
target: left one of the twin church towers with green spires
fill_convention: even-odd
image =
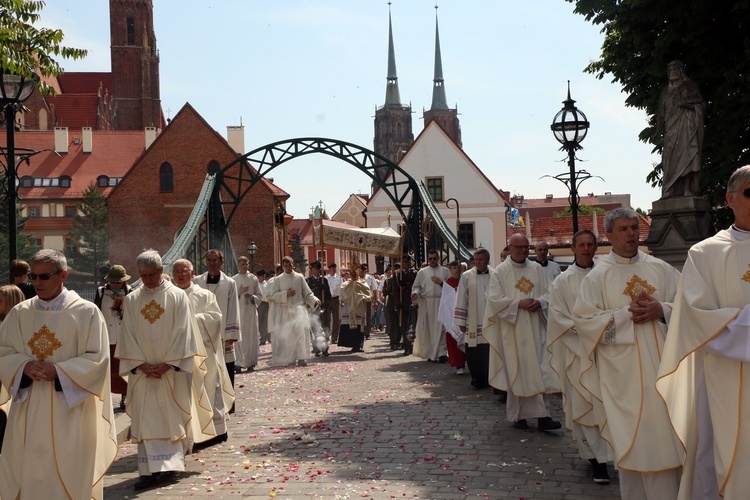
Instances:
[[[393,49],[393,28],[390,5],[388,7],[388,77],[385,89],[385,104],[375,110],[375,152],[394,163],[401,161],[404,152],[414,143],[411,128],[411,106],[401,104],[396,76],[396,55]],[[386,175],[384,169],[382,175]],[[381,172],[378,172],[381,175]],[[382,177],[381,177],[382,178]]]

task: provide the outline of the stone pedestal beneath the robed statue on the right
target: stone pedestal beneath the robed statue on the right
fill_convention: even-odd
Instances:
[[[644,244],[654,257],[682,271],[690,247],[715,233],[710,209],[708,201],[692,196],[655,201]]]

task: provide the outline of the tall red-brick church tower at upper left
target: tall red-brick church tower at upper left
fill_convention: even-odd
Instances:
[[[159,52],[152,0],[110,0],[115,130],[161,127]]]

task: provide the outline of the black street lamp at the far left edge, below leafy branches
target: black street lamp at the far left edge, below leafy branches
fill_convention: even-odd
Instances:
[[[33,73],[30,78],[21,75],[6,73],[0,68],[3,76],[3,84],[0,86],[0,107],[2,107],[5,121],[7,142],[5,152],[5,181],[8,183],[8,257],[9,261],[16,260],[17,256],[17,221],[16,200],[18,189],[16,187],[16,112],[20,104],[29,98],[39,82],[39,77]]]

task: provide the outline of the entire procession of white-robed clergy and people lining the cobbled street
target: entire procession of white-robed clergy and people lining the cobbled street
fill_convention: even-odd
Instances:
[[[743,498],[750,166],[726,201],[734,224],[694,245],[681,273],[639,249],[639,216],[625,208],[604,220],[611,251],[597,257],[597,236],[579,231],[562,273],[545,243],[530,260],[522,234],[495,267],[484,249],[447,267],[430,251],[418,270],[404,255],[382,277],[313,262],[305,278],[289,257],[273,274],[240,257],[229,277],[215,249],[204,274],[180,259],[168,277],[147,250],[141,286],[114,265],[92,303],[65,287],[65,256],[40,250],[0,287],[0,498],[102,498],[117,454],[112,394],[137,444],[134,487],[174,481],[192,450],[228,439],[234,375],[255,369],[260,345],[272,342],[273,365],[305,366],[336,344],[364,352],[383,329],[390,350],[494,388],[517,429],[535,419],[561,431],[549,396],[562,393],[593,480],[609,483],[612,464],[624,499]]]

